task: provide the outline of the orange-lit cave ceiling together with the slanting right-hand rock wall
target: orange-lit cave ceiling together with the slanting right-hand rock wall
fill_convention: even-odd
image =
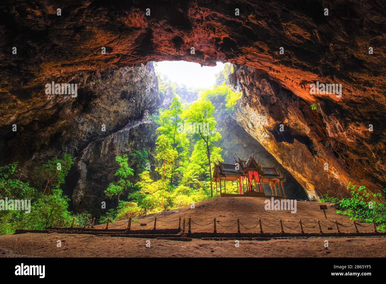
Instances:
[[[300,102],[295,109],[293,103],[279,102],[271,84],[259,90],[264,84],[256,87],[255,75],[235,76],[245,90],[239,122],[252,136],[271,133],[283,122],[292,129],[289,136],[306,141],[273,140],[272,133],[267,133],[270,141],[258,139],[293,170],[308,187],[309,196],[329,189],[343,194],[348,181],[373,191],[385,186],[386,7],[382,2],[8,2],[0,12],[2,132],[8,133],[12,124],[28,125],[56,113],[60,98],[47,100],[44,93],[51,80],[66,83],[87,72],[151,60],[203,65],[222,60],[258,69]],[[56,15],[58,8],[61,16]],[[145,14],[147,8],[150,15]],[[323,15],[325,8],[328,16]],[[12,54],[14,46],[17,54]],[[310,94],[310,83],[315,81],[342,84],[342,96]],[[87,84],[77,83],[80,89]],[[310,109],[314,103],[318,103],[316,111]],[[245,124],[248,117],[254,126]],[[1,145],[6,152],[7,141]],[[301,153],[307,153],[305,158]],[[323,162],[332,165],[330,172],[320,169]]]

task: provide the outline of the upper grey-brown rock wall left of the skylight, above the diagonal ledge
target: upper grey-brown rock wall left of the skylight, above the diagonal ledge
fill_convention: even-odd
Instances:
[[[31,102],[32,109],[2,116],[17,126],[15,132],[12,125],[1,128],[2,163],[19,161],[23,166],[62,152],[77,156],[91,141],[142,118],[146,110],[156,110],[158,85],[151,63],[82,73],[73,80],[78,82],[77,97],[46,95]]]

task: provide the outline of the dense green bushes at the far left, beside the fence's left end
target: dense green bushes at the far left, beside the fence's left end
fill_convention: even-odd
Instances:
[[[25,206],[22,210],[15,206],[0,211],[0,234],[12,233],[18,228],[44,229],[54,217],[71,222],[76,215],[68,211],[69,198],[63,196],[60,185],[72,164],[72,156],[64,153],[62,158],[55,157],[36,167],[32,171],[33,186],[17,168],[17,163],[0,167],[0,206],[5,206],[5,200],[15,204],[23,201]]]

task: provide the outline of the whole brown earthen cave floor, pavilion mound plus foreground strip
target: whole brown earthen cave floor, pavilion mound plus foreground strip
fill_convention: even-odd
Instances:
[[[191,216],[197,224],[210,223],[213,217],[223,225],[230,225],[237,217],[247,228],[256,225],[258,218],[268,225],[275,225],[281,218],[283,223],[290,228],[298,224],[298,219],[308,226],[315,224],[319,219],[322,224],[330,226],[336,219],[339,223],[349,227],[340,227],[342,232],[354,232],[350,226],[352,221],[348,216],[335,213],[331,204],[298,201],[296,213],[290,211],[266,211],[264,209],[265,198],[257,197],[220,197],[209,199],[195,204],[192,209],[189,206],[175,211],[163,211],[162,213],[149,214],[136,218],[144,223],[157,216],[157,229],[177,228],[178,222],[163,223],[162,221],[178,220],[179,216],[186,219]],[[325,204],[327,218],[319,205]],[[177,211],[177,212],[176,212]],[[109,228],[126,228],[125,221],[114,222]],[[153,222],[146,227],[140,227],[138,223],[132,223],[133,230],[151,229]],[[240,228],[242,233],[259,233],[259,226],[254,230]],[[105,224],[95,228],[105,228]],[[324,233],[333,233],[324,226]],[[358,227],[361,233],[372,232],[372,226]],[[192,223],[192,232],[210,232],[213,224],[197,226]],[[269,228],[263,226],[264,232],[280,232],[280,226]],[[306,233],[318,233],[318,228],[304,228]],[[217,225],[218,233],[235,233],[237,226],[223,227]],[[300,228],[289,230],[284,227],[286,233],[298,233]],[[61,247],[57,247],[57,241],[61,241]],[[24,233],[8,234],[0,236],[0,257],[31,256],[31,257],[385,257],[385,236],[355,236],[355,237],[307,237],[307,238],[265,238],[260,240],[240,240],[240,246],[235,247],[235,240],[202,240],[191,241],[151,239],[151,247],[146,248],[144,238],[110,237],[86,234],[62,234],[62,233]],[[328,240],[328,248],[325,248],[325,240]]]

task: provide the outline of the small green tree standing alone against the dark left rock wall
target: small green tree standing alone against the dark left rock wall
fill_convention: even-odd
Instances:
[[[122,192],[127,190],[127,187],[132,186],[132,183],[129,180],[129,176],[133,175],[133,169],[129,167],[128,164],[129,158],[127,157],[127,154],[124,154],[123,157],[116,156],[115,162],[119,163],[119,168],[117,172],[115,172],[115,176],[119,177],[119,180],[114,184],[113,182],[110,183],[105,190],[105,194],[110,199],[116,195],[118,197],[118,207],[119,207],[119,197]]]

